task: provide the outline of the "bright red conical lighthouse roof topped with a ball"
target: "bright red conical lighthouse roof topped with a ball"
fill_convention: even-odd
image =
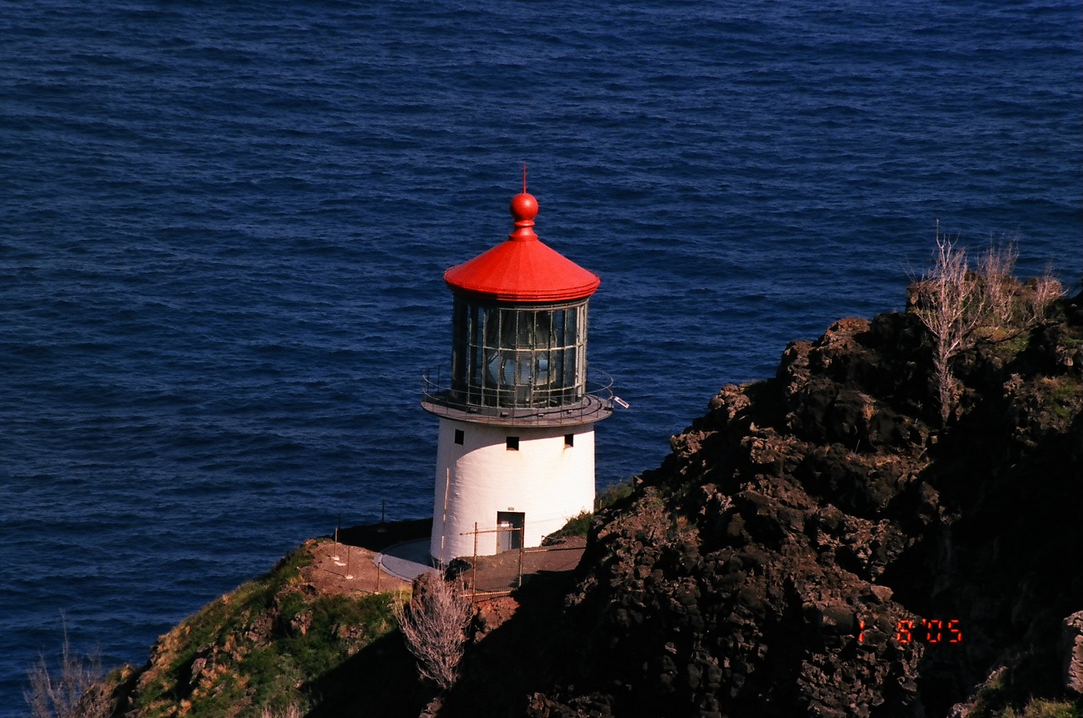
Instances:
[[[444,282],[455,291],[465,291],[505,302],[562,302],[595,293],[601,279],[534,234],[538,201],[522,194],[511,199],[516,231],[508,240],[469,262],[444,272]]]

